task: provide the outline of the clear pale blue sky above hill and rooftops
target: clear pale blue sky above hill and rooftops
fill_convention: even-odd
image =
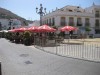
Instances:
[[[100,0],[0,0],[0,7],[10,10],[11,12],[27,19],[39,20],[39,14],[36,13],[36,7],[40,4],[46,8],[47,13],[67,5],[80,6],[82,8],[92,6],[93,2],[100,5]]]

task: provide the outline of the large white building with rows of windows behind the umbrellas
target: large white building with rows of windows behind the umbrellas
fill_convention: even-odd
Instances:
[[[42,23],[50,26],[63,27],[71,25],[76,27],[90,27],[89,34],[100,37],[100,6],[93,4],[86,9],[80,6],[65,6],[48,13],[42,17]],[[76,34],[74,32],[74,34]]]

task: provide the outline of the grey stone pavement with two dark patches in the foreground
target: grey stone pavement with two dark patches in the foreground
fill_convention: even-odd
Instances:
[[[100,75],[100,63],[61,57],[0,39],[3,75]]]

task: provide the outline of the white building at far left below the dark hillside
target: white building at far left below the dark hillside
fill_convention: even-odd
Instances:
[[[21,27],[21,21],[17,19],[0,19],[0,29],[7,30],[10,27],[11,29]]]

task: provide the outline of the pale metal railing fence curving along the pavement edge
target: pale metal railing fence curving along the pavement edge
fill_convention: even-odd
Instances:
[[[53,42],[51,41],[52,40],[49,40],[48,38],[35,37],[34,46],[43,51],[61,56],[100,62],[100,43],[87,43],[84,40],[72,41],[72,39],[63,41],[54,39]]]

